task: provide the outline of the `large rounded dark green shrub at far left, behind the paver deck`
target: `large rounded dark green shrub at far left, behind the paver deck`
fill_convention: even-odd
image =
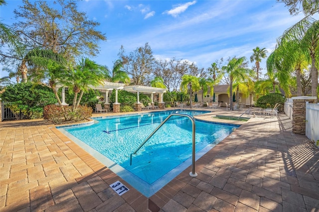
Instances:
[[[41,118],[43,106],[57,102],[51,88],[31,82],[7,86],[1,99],[11,103],[8,107],[17,119]]]

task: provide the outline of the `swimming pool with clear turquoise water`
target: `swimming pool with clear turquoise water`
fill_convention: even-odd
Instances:
[[[189,115],[209,111],[170,110],[95,118],[89,126],[59,128],[90,154],[145,196],[152,196],[191,164],[192,124],[187,117],[171,117],[133,156],[130,155],[171,113]],[[236,126],[195,121],[196,160],[230,134]]]

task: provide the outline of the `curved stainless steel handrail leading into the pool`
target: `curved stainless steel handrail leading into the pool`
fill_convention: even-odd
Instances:
[[[197,173],[195,172],[195,121],[194,121],[194,118],[192,116],[187,115],[187,114],[174,113],[174,114],[168,115],[167,118],[165,118],[165,120],[163,122],[161,122],[160,125],[149,135],[149,137],[147,139],[145,139],[145,141],[135,150],[135,152],[133,152],[131,154],[130,166],[132,165],[133,154],[136,154],[142,148],[142,146],[144,146],[144,144],[160,129],[160,127],[173,115],[188,117],[192,122],[192,166],[191,166],[191,172],[189,173],[189,175],[191,177],[197,176]]]

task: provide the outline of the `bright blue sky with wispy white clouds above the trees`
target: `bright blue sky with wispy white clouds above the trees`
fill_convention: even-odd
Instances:
[[[6,2],[0,17],[10,25],[15,22],[13,10],[22,1]],[[303,17],[291,16],[285,4],[276,0],[82,0],[78,10],[100,22],[97,29],[107,41],[100,43],[100,54],[90,59],[109,68],[118,59],[121,45],[129,53],[146,42],[157,59],[175,57],[205,69],[221,57],[249,60],[256,46],[266,48],[269,55],[276,39]],[[0,77],[7,75],[2,68],[3,64]]]

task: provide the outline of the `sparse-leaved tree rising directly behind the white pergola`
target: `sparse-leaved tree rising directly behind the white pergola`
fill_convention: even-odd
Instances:
[[[123,63],[123,70],[132,76],[133,85],[148,85],[152,72],[154,57],[149,43],[137,48],[129,55],[125,55],[124,47],[121,46],[119,56]]]

